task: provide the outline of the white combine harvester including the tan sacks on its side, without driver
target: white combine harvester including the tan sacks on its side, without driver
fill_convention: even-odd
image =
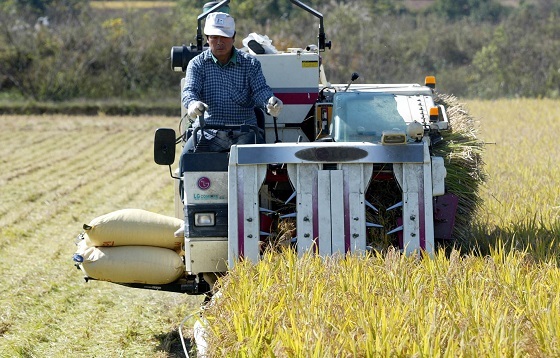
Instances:
[[[265,53],[255,55],[284,102],[278,118],[261,113],[267,143],[196,150],[173,171],[177,144],[193,134],[183,108],[181,133],[160,128],[154,143],[156,163],[169,166],[176,182],[176,218],[125,210],[84,225],[74,260],[86,279],[207,294],[217,275],[241,259],[259,261],[275,240],[300,255],[331,255],[366,252],[379,237],[394,237],[406,254],[432,254],[436,242],[452,238],[458,199],[446,192],[443,158],[433,155],[449,128],[446,109],[434,101],[435,78],[355,84],[354,73],[347,84],[328,83],[323,15],[291,2],[319,19],[318,44],[283,52],[263,44]],[[174,70],[185,71],[205,49],[202,21],[228,3],[198,16],[196,44],[172,48]],[[105,234],[92,240],[96,230]]]

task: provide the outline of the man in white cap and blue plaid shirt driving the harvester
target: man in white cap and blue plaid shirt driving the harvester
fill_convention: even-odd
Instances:
[[[204,26],[209,49],[193,58],[187,67],[182,103],[187,115],[194,120],[193,128],[209,126],[257,126],[255,108],[266,109],[277,117],[283,103],[267,85],[260,62],[248,53],[238,51],[235,41],[235,21],[227,13],[214,12]],[[263,133],[238,130],[205,130],[207,151],[228,151],[232,144],[263,143]],[[198,132],[197,140],[202,138]],[[189,138],[183,151],[194,150]]]

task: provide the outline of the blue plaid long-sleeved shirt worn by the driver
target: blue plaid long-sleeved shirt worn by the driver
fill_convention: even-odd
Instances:
[[[206,124],[256,125],[254,108],[265,108],[272,90],[266,84],[260,62],[248,53],[233,49],[232,60],[220,66],[208,49],[193,58],[187,67],[182,103],[208,105]],[[198,119],[194,127],[198,126]]]

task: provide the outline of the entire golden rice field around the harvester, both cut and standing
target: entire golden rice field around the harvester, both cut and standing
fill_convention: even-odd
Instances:
[[[205,314],[209,356],[559,356],[559,102],[467,108],[487,142],[483,253],[239,265]],[[183,356],[177,329],[201,297],[85,283],[71,259],[96,216],[173,215],[158,127],[177,119],[0,116],[1,357]]]

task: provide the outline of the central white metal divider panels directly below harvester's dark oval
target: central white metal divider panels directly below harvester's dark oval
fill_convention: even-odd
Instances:
[[[320,255],[366,248],[365,191],[373,165],[351,163],[340,167],[339,170],[319,170],[317,164],[288,166],[298,198],[300,254],[313,247],[313,239],[317,237]],[[318,229],[314,225],[318,225]]]

